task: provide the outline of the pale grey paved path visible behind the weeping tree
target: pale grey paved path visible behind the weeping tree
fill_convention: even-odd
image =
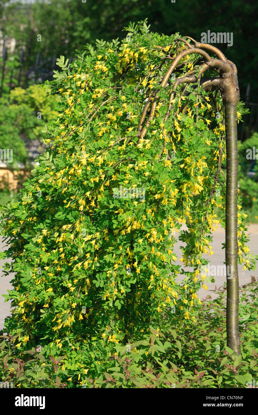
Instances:
[[[250,234],[249,247],[251,249],[251,252],[257,255],[258,254],[258,224],[250,225],[248,233]],[[214,255],[211,255],[211,256],[204,255],[205,258],[210,259],[211,271],[215,269],[214,266],[216,266],[217,269],[219,269],[219,267],[223,265],[223,261],[225,257],[225,250],[222,249],[221,244],[222,242],[224,242],[224,240],[225,240],[224,229],[219,227],[218,229],[216,229],[215,232],[213,232],[212,251],[214,252]],[[182,245],[182,242],[180,241],[177,242],[175,245],[175,249],[174,249],[178,259],[181,258],[181,250],[179,248],[181,245]],[[0,240],[0,251],[4,251],[4,249],[5,249],[4,244]],[[4,260],[0,261],[0,265],[2,265],[4,262],[5,262]],[[178,261],[178,264],[181,264],[181,262]],[[240,285],[250,282],[252,275],[255,275],[256,277],[258,277],[257,270],[256,271],[248,271],[248,270],[243,271],[242,268],[243,267],[239,265],[239,284]],[[2,269],[0,269],[0,276],[2,275],[3,275]],[[9,276],[8,278],[5,276],[0,278],[0,294],[1,294],[0,295],[0,329],[4,325],[5,317],[7,315],[10,315],[10,302],[8,301],[7,303],[5,303],[4,302],[5,298],[2,297],[2,294],[7,294],[7,290],[12,289],[12,286],[10,284],[10,280],[12,280],[12,278],[13,278],[13,274]],[[178,277],[178,280],[180,279],[182,278]],[[207,282],[207,287],[209,290],[211,290],[211,289],[214,289],[215,286],[217,287],[223,286],[224,281],[226,281],[226,277],[224,275],[215,276],[215,283]],[[202,288],[199,291],[200,298],[204,298],[207,294],[211,295],[210,291],[207,291],[207,290],[205,291],[204,288]],[[213,298],[214,298],[214,295],[213,295]]]

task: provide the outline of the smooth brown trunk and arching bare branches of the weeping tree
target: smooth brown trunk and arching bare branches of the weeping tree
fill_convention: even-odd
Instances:
[[[240,337],[239,337],[239,277],[238,277],[238,236],[237,236],[237,212],[238,212],[238,151],[237,151],[237,104],[239,102],[239,86],[237,79],[236,65],[227,60],[224,54],[215,46],[204,44],[195,41],[191,37],[186,39],[191,40],[190,44],[185,39],[176,38],[177,42],[183,42],[186,49],[182,50],[176,56],[166,56],[166,59],[171,59],[171,65],[166,71],[161,87],[167,85],[172,73],[178,68],[182,59],[188,55],[201,56],[194,64],[195,68],[188,71],[186,76],[175,78],[174,87],[171,90],[169,97],[169,105],[166,112],[165,120],[169,119],[172,101],[174,99],[175,91],[179,85],[193,84],[198,82],[205,91],[218,92],[222,97],[223,114],[225,123],[225,140],[227,149],[227,185],[226,185],[226,220],[225,220],[225,235],[226,235],[226,269],[227,269],[227,345],[240,354]],[[162,49],[162,47],[161,47]],[[215,56],[215,57],[211,57]],[[201,76],[206,71],[214,71],[217,73],[216,77],[203,78]],[[145,105],[144,111],[139,125],[139,140],[145,137],[147,127],[154,118],[154,111],[157,106],[157,97],[159,90],[155,91],[152,99],[149,99]],[[217,110],[217,102],[214,95],[211,95],[215,109]],[[144,127],[147,110],[152,104],[150,115]],[[166,147],[166,143],[165,143]],[[221,153],[219,154],[218,170],[216,178],[221,171]]]

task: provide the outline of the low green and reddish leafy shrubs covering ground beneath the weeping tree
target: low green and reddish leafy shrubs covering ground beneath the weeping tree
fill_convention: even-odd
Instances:
[[[18,388],[246,388],[258,386],[258,322],[256,278],[240,287],[240,335],[242,356],[234,356],[226,346],[226,291],[220,287],[196,312],[191,328],[169,329],[161,333],[153,328],[133,344],[114,346],[110,356],[101,351],[99,363],[105,370],[87,377],[78,370],[74,355],[59,356],[48,347],[21,351],[15,338],[5,336],[0,344],[0,379],[13,381]],[[169,322],[168,322],[169,323]],[[173,325],[173,321],[171,322]],[[18,354],[18,350],[20,353]],[[19,355],[19,357],[17,357]],[[31,355],[29,359],[28,355]],[[26,357],[27,356],[27,357]],[[84,357],[86,357],[84,355]],[[70,361],[70,363],[69,363]],[[76,366],[76,365],[74,365]],[[68,368],[65,370],[65,368]],[[86,374],[85,374],[86,372]]]

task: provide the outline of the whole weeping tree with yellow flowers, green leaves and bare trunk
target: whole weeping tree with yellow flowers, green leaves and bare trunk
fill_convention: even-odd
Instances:
[[[1,217],[5,273],[15,273],[5,331],[18,351],[40,344],[65,356],[73,377],[106,370],[118,344],[148,330],[193,327],[219,221],[227,344],[239,354],[237,264],[253,267],[237,191],[236,67],[213,46],[149,32],[146,21],[125,30],[121,44],[97,41],[70,66],[58,60],[48,149]]]

